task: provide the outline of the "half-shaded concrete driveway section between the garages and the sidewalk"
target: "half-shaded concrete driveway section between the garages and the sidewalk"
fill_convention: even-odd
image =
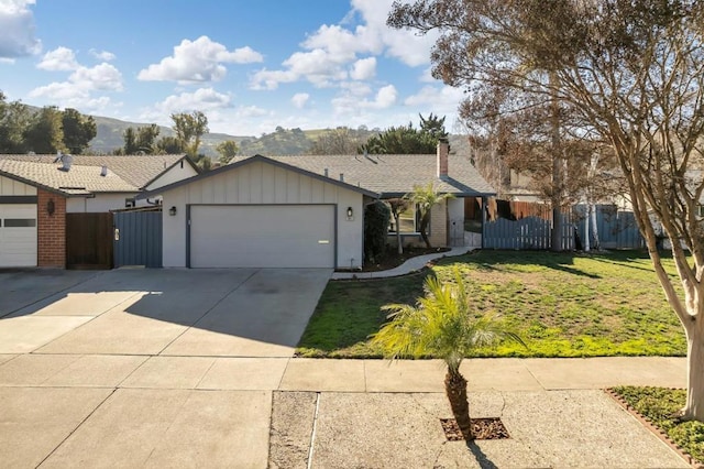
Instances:
[[[0,353],[290,357],[330,274],[0,273]]]

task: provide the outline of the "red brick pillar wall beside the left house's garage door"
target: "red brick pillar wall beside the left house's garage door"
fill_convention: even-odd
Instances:
[[[37,189],[36,229],[37,265],[40,268],[66,268],[66,198]],[[47,211],[54,201],[54,214]]]

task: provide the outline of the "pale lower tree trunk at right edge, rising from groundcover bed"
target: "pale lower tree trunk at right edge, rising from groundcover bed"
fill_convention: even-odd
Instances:
[[[682,419],[704,422],[704,324],[702,318],[693,318],[696,324],[686,334],[688,392]]]

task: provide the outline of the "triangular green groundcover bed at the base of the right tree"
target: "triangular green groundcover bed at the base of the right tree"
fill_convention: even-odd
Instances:
[[[620,395],[640,415],[668,434],[684,452],[704,461],[704,424],[701,422],[679,422],[673,415],[686,402],[685,390],[667,388],[617,386]]]

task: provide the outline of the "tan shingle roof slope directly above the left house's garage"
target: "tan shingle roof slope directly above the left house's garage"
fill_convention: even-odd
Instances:
[[[0,159],[0,175],[65,195],[94,193],[136,193],[140,189],[112,171],[100,175],[100,167],[72,165],[61,171],[61,164]]]

